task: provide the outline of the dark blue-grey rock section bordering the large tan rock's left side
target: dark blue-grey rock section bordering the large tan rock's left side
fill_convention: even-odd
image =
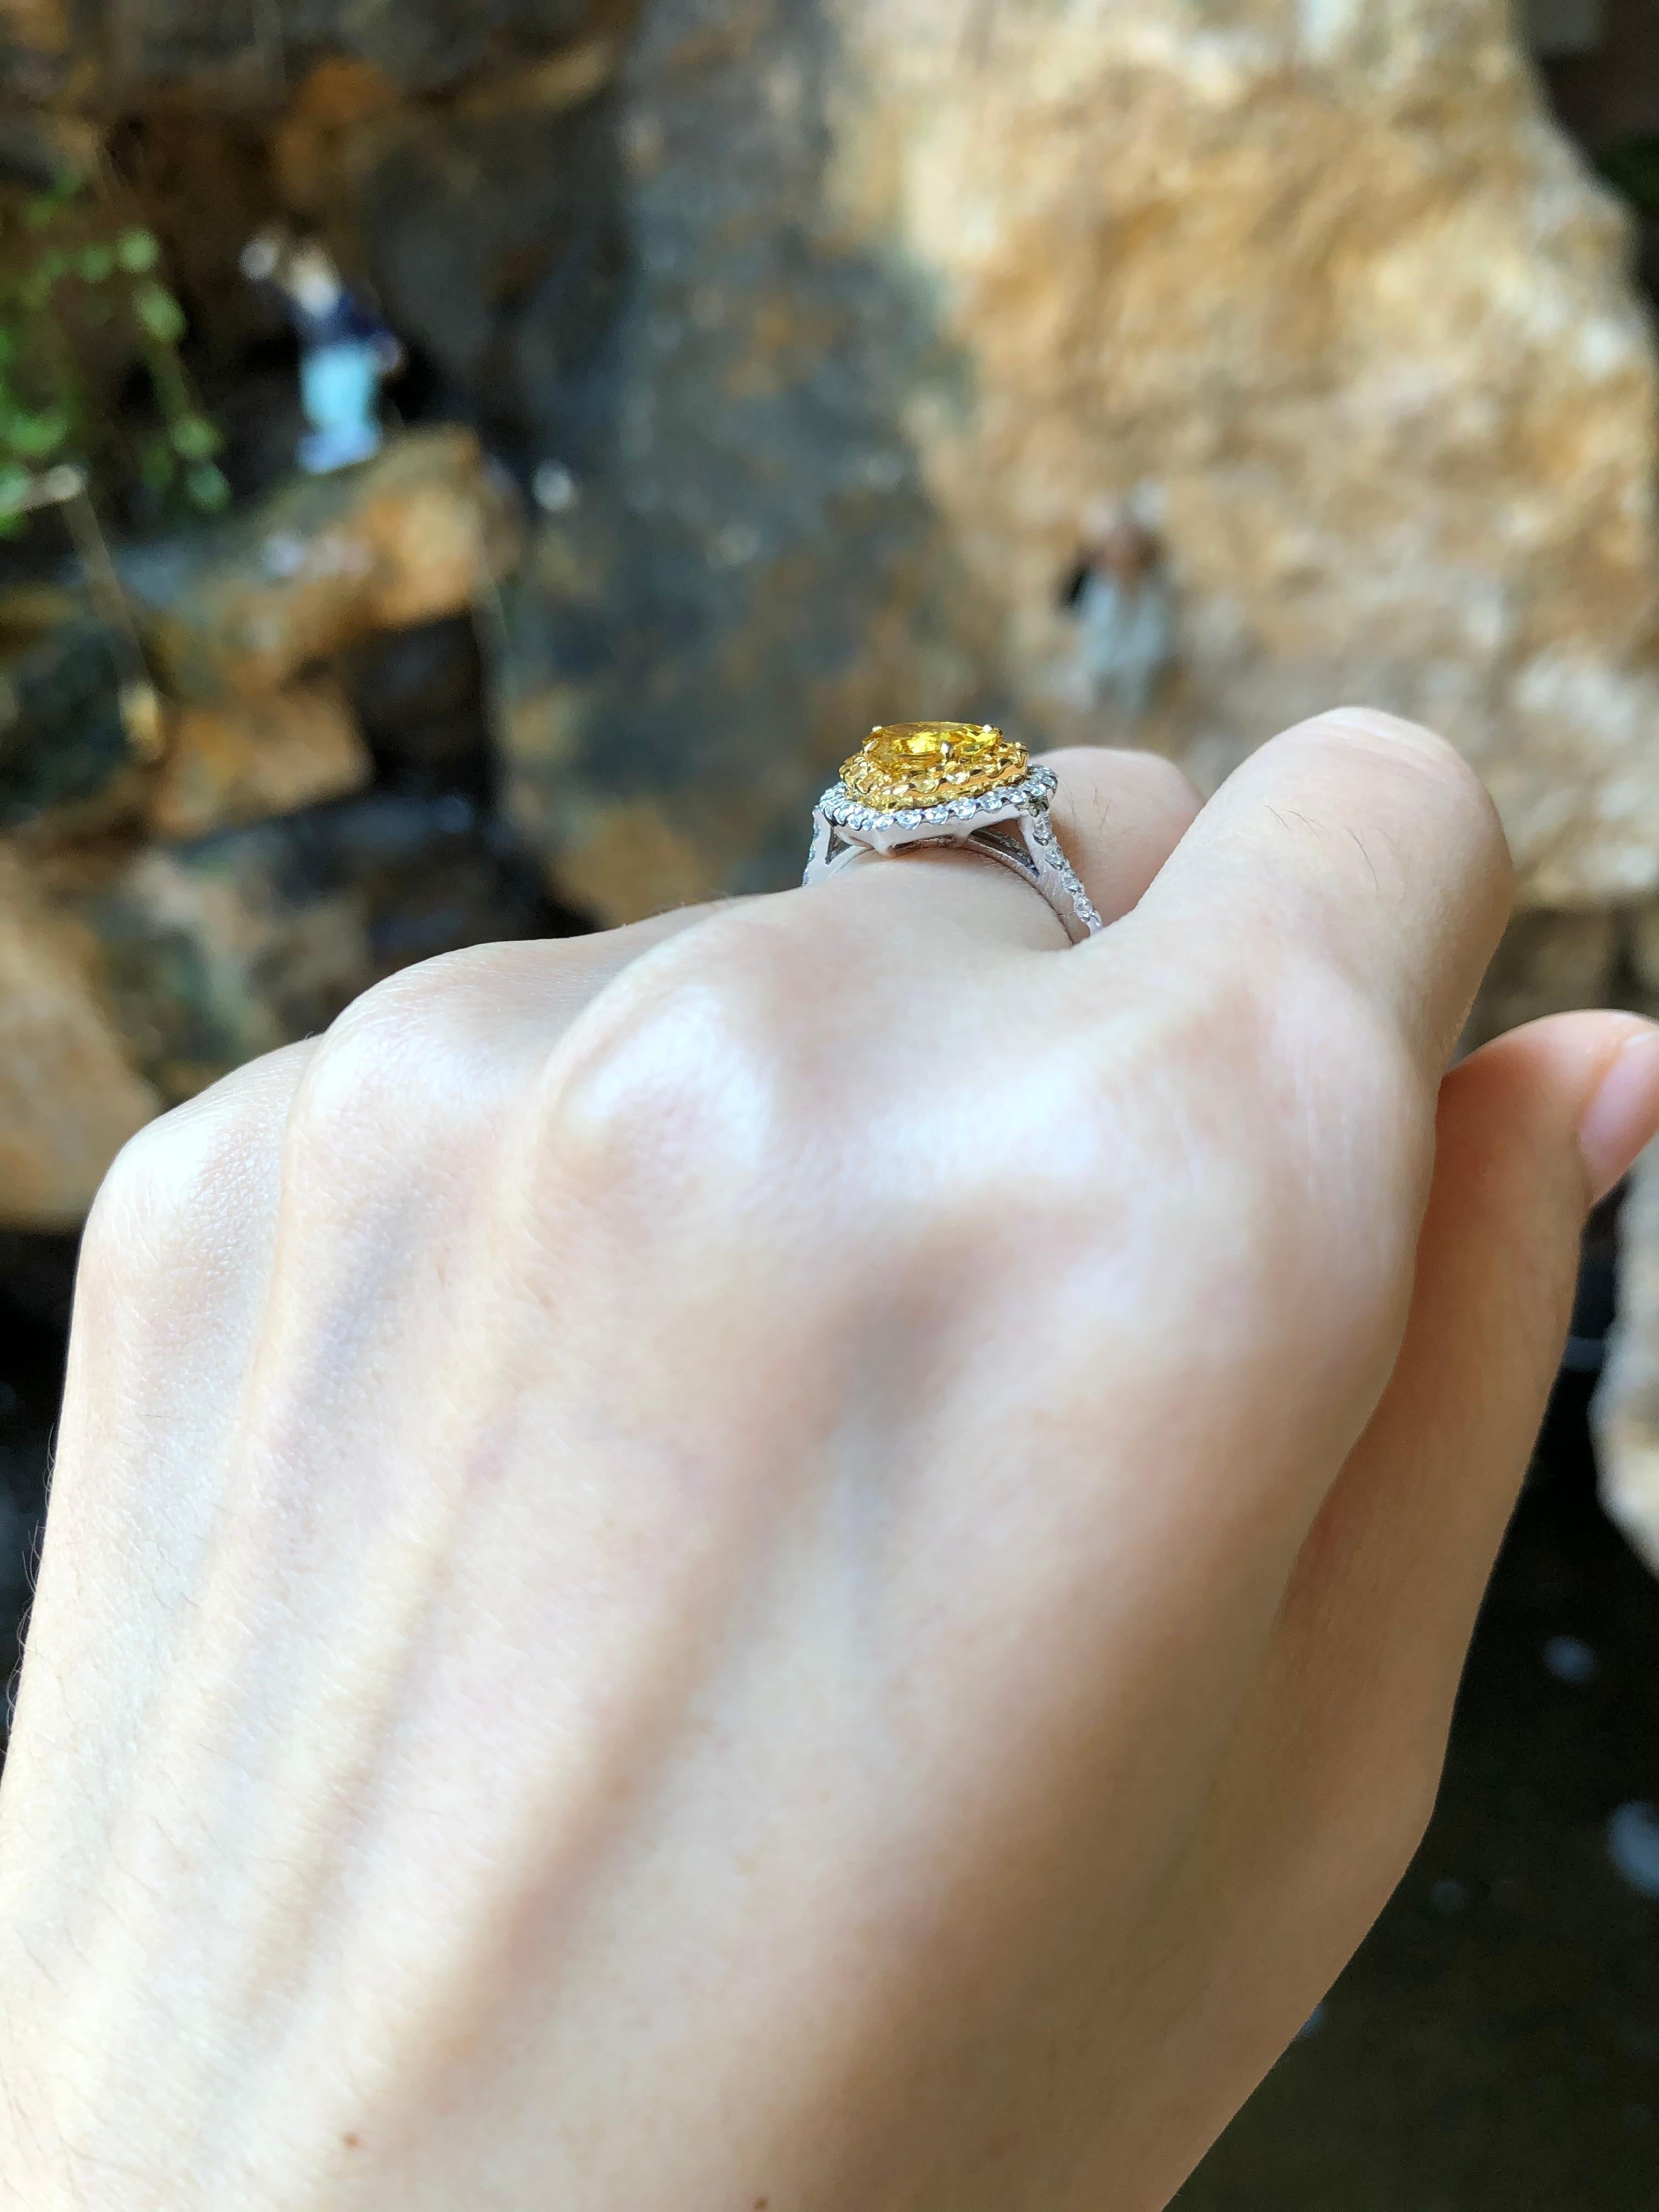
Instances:
[[[964,365],[849,239],[812,0],[659,0],[624,77],[637,279],[615,438],[507,595],[507,799],[606,920],[799,876],[872,721],[995,708],[911,451]]]

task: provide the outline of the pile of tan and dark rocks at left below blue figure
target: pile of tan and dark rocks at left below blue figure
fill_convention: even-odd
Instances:
[[[511,549],[453,429],[131,555],[137,635],[0,597],[0,1232],[73,1228],[150,1115],[394,969],[546,927],[478,805],[476,606]]]

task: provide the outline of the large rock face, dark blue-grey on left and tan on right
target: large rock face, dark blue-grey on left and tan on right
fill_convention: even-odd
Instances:
[[[513,805],[626,916],[783,883],[880,717],[1214,783],[1360,697],[1447,728],[1542,907],[1659,887],[1655,363],[1504,0],[657,0],[617,434],[513,613]],[[1060,608],[1137,495],[1155,712]]]

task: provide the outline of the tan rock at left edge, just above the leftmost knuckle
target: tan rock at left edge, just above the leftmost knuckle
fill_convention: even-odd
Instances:
[[[119,1148],[161,1110],[88,951],[0,854],[0,1228],[75,1228]]]

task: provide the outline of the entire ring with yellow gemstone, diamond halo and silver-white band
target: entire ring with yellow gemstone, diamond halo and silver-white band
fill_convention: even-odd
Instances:
[[[1106,925],[1060,847],[1051,768],[989,721],[894,721],[872,730],[812,816],[807,883],[860,854],[885,860],[929,845],[982,852],[1053,907],[1073,945]]]

